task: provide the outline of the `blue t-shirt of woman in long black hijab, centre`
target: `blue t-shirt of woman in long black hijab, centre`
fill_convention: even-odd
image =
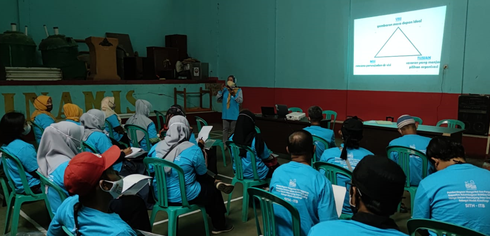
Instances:
[[[231,135],[229,140],[233,140],[233,135]],[[253,154],[255,154],[255,165],[257,166],[257,174],[259,175],[259,179],[263,180],[265,179],[265,177],[267,177],[269,168],[267,168],[267,166],[264,164],[262,160],[269,158],[270,156],[269,149],[267,148],[267,145],[264,143],[264,150],[256,150],[255,138],[253,138],[252,140],[252,146],[250,147],[250,149],[252,149]],[[252,159],[250,159],[250,153],[247,153],[247,158],[240,158],[240,160],[242,160],[243,178],[253,180]],[[237,168],[235,167],[235,162],[233,162],[233,172],[236,171]]]

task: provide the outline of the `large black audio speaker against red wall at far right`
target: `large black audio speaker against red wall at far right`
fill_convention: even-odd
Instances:
[[[458,120],[464,122],[465,134],[488,135],[490,97],[484,95],[460,95]]]

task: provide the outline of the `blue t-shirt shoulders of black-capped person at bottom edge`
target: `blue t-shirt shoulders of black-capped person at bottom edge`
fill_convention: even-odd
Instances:
[[[327,221],[313,226],[308,236],[338,236],[338,235],[356,235],[356,236],[407,236],[395,229],[380,229],[357,221]]]

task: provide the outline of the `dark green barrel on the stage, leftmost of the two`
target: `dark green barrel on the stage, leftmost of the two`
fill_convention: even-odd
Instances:
[[[35,66],[36,43],[18,31],[0,34],[0,61],[5,67]]]

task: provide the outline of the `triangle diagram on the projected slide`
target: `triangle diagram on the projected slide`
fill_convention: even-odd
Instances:
[[[421,56],[412,41],[397,27],[374,57]]]

